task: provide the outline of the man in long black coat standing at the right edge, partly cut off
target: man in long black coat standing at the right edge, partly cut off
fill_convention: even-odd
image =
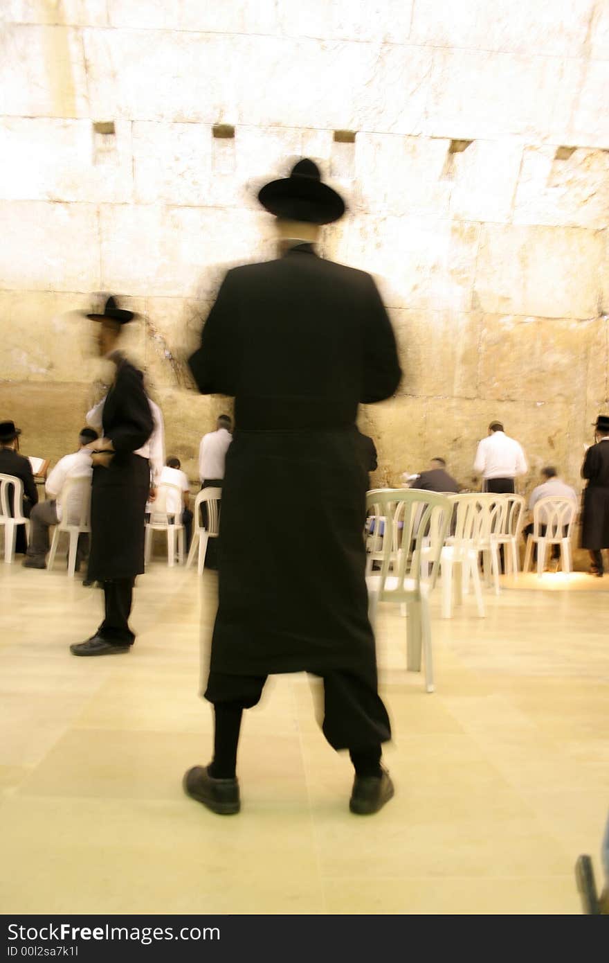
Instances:
[[[581,546],[590,551],[592,572],[604,572],[602,549],[609,548],[609,417],[596,419],[596,444],[586,452],[581,469],[588,480],[584,488],[584,510],[581,520]]]

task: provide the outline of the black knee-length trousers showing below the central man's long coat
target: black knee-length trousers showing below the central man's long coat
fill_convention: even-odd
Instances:
[[[211,671],[205,698],[214,705],[232,704],[251,709],[260,701],[266,678],[266,675],[225,675]],[[322,679],[321,731],[333,749],[357,751],[389,742],[392,727],[375,686],[348,672],[327,672]]]

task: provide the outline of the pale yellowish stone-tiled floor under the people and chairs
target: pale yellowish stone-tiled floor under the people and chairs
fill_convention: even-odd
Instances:
[[[609,596],[561,578],[488,592],[486,619],[467,598],[442,620],[436,598],[433,695],[381,607],[396,795],[378,816],[348,813],[348,759],[298,675],[247,714],[243,808],[222,819],[181,789],[210,756],[215,575],[154,563],[135,650],[75,659],[100,592],[0,564],[3,912],[578,913],[573,864],[590,852],[599,875],[609,808]]]

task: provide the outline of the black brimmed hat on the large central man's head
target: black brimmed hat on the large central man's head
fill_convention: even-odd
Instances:
[[[290,221],[329,224],[344,214],[343,198],[321,183],[317,164],[307,157],[294,164],[289,177],[265,184],[258,199],[270,214]]]

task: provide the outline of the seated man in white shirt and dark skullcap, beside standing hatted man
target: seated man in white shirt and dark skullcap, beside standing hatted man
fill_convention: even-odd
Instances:
[[[46,502],[38,502],[30,515],[30,543],[28,545],[27,556],[23,560],[25,568],[46,568],[46,554],[49,550],[49,528],[62,521],[62,507],[57,499],[60,497],[63,485],[68,479],[91,478],[92,465],[91,453],[86,445],[95,441],[98,437],[97,431],[91,428],[84,428],[79,435],[80,448],[71,455],[63,455],[55,468],[48,476],[45,484],[47,494]],[[70,499],[67,506],[70,519],[80,515],[81,505],[75,497]],[[81,562],[89,555],[89,534],[86,532],[78,536],[78,546],[76,549],[76,571],[79,570]]]

